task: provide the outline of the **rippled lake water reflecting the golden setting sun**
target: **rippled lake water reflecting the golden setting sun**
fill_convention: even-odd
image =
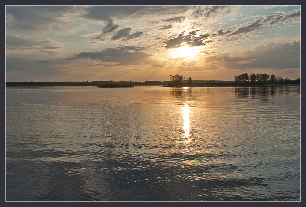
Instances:
[[[300,201],[300,88],[7,87],[6,201]]]

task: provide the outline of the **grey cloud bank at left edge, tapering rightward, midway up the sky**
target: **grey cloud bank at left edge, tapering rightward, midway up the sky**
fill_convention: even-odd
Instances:
[[[6,48],[10,50],[54,50],[60,48],[57,43],[46,39],[6,36]]]

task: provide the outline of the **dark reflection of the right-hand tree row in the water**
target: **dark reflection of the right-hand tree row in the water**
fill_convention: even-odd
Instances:
[[[236,87],[235,95],[246,96],[262,96],[262,95],[276,95],[282,93],[281,87]]]

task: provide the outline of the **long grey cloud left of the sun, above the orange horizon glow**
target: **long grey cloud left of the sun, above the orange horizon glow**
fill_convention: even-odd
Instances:
[[[113,63],[114,65],[142,65],[142,64],[158,64],[157,61],[153,61],[148,57],[151,54],[136,51],[137,47],[119,47],[108,48],[102,52],[81,52],[74,55],[71,59],[89,58],[92,60],[98,60],[106,63]],[[131,52],[130,50],[135,50]]]

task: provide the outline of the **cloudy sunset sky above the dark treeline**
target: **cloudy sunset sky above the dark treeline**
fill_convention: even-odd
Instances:
[[[300,5],[6,5],[6,81],[300,77]]]

